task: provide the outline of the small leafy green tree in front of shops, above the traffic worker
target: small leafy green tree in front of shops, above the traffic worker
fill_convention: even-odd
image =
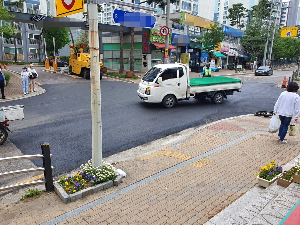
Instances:
[[[204,51],[208,52],[208,59],[211,59],[214,49],[219,47],[225,37],[223,28],[219,27],[219,22],[215,22],[214,25],[210,23],[210,28],[203,29],[203,33],[202,40],[197,42],[205,46]]]

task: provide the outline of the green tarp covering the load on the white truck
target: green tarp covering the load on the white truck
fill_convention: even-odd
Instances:
[[[209,86],[214,84],[239,83],[240,79],[230,78],[226,76],[212,76],[201,78],[190,78],[191,86]]]

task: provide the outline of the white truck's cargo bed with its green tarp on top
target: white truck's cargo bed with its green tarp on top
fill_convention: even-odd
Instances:
[[[212,76],[190,79],[190,94],[221,90],[240,91],[240,88],[242,88],[242,81],[240,79],[225,76]]]

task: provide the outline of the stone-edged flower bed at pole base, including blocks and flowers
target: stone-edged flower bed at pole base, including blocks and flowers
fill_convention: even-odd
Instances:
[[[74,176],[61,177],[55,182],[54,190],[64,203],[69,203],[113,185],[118,186],[121,182],[122,176],[116,175],[116,168],[111,164],[103,162],[101,169],[93,167],[92,160],[89,160]]]

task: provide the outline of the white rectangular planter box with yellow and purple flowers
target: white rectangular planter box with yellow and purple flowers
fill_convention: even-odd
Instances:
[[[275,161],[271,161],[266,166],[261,167],[257,175],[258,184],[262,187],[268,187],[273,184],[282,173],[282,167],[275,165]]]

